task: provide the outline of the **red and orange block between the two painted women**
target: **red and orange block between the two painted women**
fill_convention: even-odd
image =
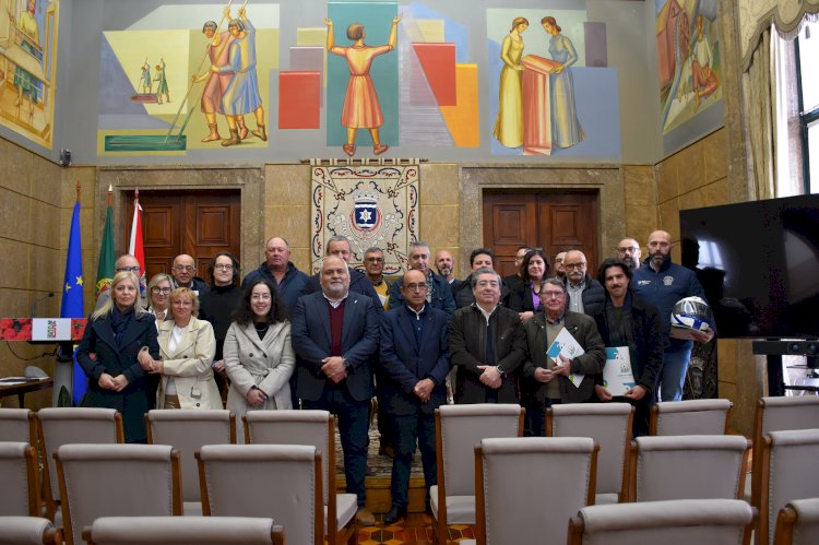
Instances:
[[[554,60],[526,55],[523,66],[523,154],[551,155],[551,88]]]

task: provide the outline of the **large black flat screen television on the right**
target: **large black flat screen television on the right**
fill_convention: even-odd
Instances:
[[[819,194],[679,213],[720,337],[819,339]]]

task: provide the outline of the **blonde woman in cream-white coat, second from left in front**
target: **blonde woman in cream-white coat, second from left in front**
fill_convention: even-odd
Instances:
[[[170,319],[159,324],[161,360],[151,372],[162,375],[156,391],[158,408],[223,408],[211,362],[216,337],[210,322],[194,318],[199,298],[188,287],[170,292]]]

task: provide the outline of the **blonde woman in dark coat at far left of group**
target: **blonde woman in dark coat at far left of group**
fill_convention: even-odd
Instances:
[[[91,315],[76,360],[88,377],[82,406],[119,411],[126,442],[146,440],[143,415],[156,396],[140,366],[140,358],[147,357],[159,358],[154,316],[140,306],[136,275],[121,271],[114,276],[111,296]]]

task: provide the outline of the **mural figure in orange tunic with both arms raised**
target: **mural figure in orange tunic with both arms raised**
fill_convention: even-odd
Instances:
[[[370,47],[364,44],[364,25],[353,23],[347,27],[347,38],[353,40],[351,47],[340,47],[335,45],[333,37],[333,22],[324,20],[328,27],[327,50],[333,55],[344,57],[349,66],[349,81],[347,82],[347,92],[344,97],[344,108],[342,109],[342,125],[347,128],[347,143],[344,144],[344,153],[351,157],[356,152],[355,141],[358,129],[368,129],[372,137],[372,153],[380,155],[390,146],[382,144],[378,134],[378,128],[384,125],[384,117],[381,114],[381,105],[378,103],[376,86],[370,78],[370,66],[372,59],[395,49],[395,43],[399,36],[399,22],[401,14],[395,15],[392,20],[390,38],[385,46]]]

